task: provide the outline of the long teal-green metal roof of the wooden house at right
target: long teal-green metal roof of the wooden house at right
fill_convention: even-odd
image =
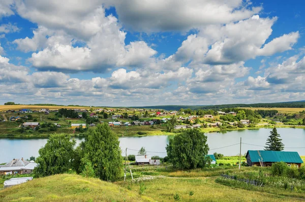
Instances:
[[[283,152],[283,151],[265,151],[265,150],[248,150],[246,158],[250,155],[252,162],[259,162],[260,156],[263,158],[263,162],[281,162],[286,163],[303,163],[301,157],[297,152]]]

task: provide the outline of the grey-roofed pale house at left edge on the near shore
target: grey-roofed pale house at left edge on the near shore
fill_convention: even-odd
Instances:
[[[0,167],[0,175],[32,174],[37,163],[34,161],[26,161],[23,158],[13,159],[11,162]]]

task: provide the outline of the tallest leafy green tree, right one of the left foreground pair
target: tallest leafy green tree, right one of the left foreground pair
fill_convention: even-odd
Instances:
[[[101,180],[113,181],[120,177],[123,164],[119,141],[107,123],[88,130],[80,154],[82,162],[92,163],[95,176]]]

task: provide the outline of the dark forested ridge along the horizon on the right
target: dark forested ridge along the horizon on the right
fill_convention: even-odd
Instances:
[[[237,107],[281,107],[281,108],[305,108],[305,101],[291,101],[291,102],[276,102],[276,103],[254,103],[254,104],[221,104],[221,105],[158,105],[158,106],[142,106],[133,108],[148,108],[148,109],[164,109],[164,110],[179,110],[181,108],[187,109],[223,109],[223,108],[237,108]]]

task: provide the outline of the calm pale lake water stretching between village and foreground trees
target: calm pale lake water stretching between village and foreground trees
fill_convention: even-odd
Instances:
[[[210,148],[209,154],[214,152],[233,156],[239,154],[240,137],[243,143],[251,144],[241,145],[241,153],[245,154],[248,150],[263,150],[269,132],[272,129],[261,128],[257,130],[234,130],[226,133],[214,132],[206,133],[207,143]],[[296,151],[299,155],[305,155],[305,129],[298,128],[278,128],[281,134],[285,151]],[[156,135],[143,137],[120,137],[120,147],[124,151],[128,148],[128,154],[137,154],[141,147],[145,147],[147,154],[166,156],[165,147],[171,135]],[[75,137],[77,144],[84,138]],[[0,138],[0,163],[11,161],[13,158],[29,158],[38,156],[38,150],[45,145],[46,138],[42,139],[10,139]],[[237,145],[234,145],[237,144]],[[231,146],[234,145],[234,146]],[[255,145],[255,146],[254,146]],[[227,147],[229,146],[229,147]]]

